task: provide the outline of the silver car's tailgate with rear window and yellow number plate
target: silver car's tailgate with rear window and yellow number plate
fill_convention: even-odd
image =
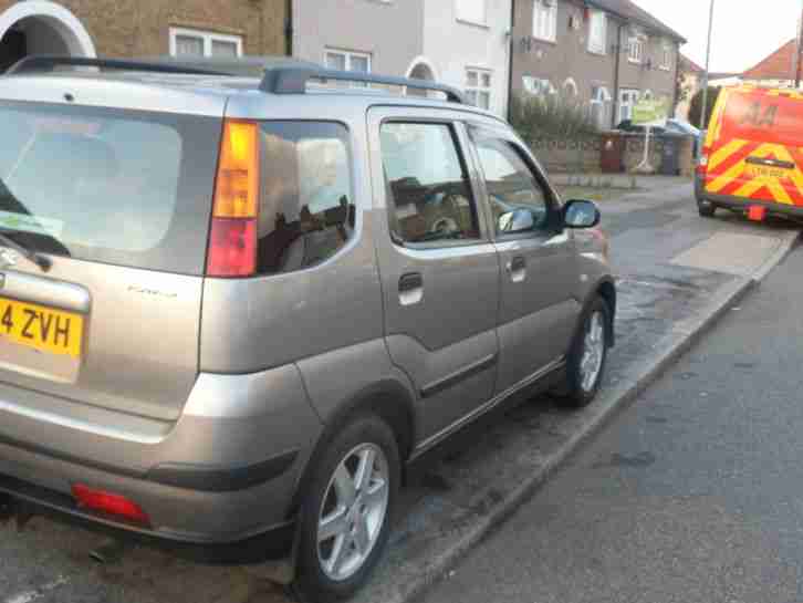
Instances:
[[[0,98],[30,86],[86,104],[0,100],[0,408],[176,420],[198,374],[222,102],[188,115],[140,108],[154,103],[146,86],[2,80]],[[192,112],[181,96],[160,103]],[[97,106],[117,98],[128,106]]]

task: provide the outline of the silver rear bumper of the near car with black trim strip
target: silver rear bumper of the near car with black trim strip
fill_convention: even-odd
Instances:
[[[322,429],[294,365],[201,374],[179,420],[164,428],[30,391],[0,393],[0,492],[171,542],[230,544],[285,530]],[[77,484],[134,502],[147,524],[79,506]]]

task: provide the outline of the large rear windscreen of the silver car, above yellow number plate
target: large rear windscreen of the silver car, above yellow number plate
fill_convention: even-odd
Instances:
[[[41,252],[200,274],[220,119],[0,103],[0,232]]]

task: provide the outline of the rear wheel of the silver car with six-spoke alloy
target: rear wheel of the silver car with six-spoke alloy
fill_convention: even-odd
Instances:
[[[317,458],[300,509],[292,585],[309,603],[347,599],[367,580],[387,542],[401,475],[394,433],[374,415],[346,424]]]

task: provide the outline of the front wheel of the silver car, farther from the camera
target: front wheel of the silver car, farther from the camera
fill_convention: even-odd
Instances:
[[[611,309],[599,295],[583,310],[566,361],[566,382],[557,393],[564,406],[583,408],[599,391],[611,341]]]

